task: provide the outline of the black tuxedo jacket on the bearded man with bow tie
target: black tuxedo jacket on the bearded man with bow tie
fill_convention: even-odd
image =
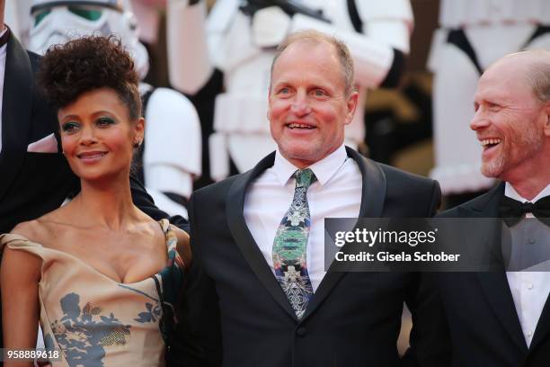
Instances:
[[[444,211],[446,218],[499,218],[504,183],[491,191]],[[479,246],[500,243],[501,225],[490,226]],[[500,247],[499,247],[500,248]],[[439,273],[453,342],[453,367],[550,366],[550,301],[538,320],[528,348],[521,331],[506,273]]]

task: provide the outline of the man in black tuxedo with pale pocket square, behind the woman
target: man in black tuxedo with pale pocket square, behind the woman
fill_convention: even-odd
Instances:
[[[58,208],[80,190],[61,154],[56,113],[35,85],[40,56],[23,49],[4,25],[4,6],[0,0],[0,233]],[[154,219],[168,218],[141,183],[133,177],[130,181],[141,210]],[[179,216],[170,220],[188,227]]]

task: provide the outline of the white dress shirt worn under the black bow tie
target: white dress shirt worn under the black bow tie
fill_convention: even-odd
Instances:
[[[521,197],[510,183],[506,183],[504,195],[511,199],[527,202]],[[536,202],[550,195],[550,184],[537,194],[531,202]],[[533,218],[533,214],[528,213],[527,218]],[[550,246],[550,243],[548,244]],[[518,311],[519,324],[525,336],[527,345],[531,345],[538,319],[545,307],[546,299],[550,294],[550,273],[549,272],[506,272],[508,284],[516,311]]]

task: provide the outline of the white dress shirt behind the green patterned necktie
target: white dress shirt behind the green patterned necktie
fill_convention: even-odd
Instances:
[[[324,274],[324,219],[357,218],[361,201],[362,176],[357,163],[342,147],[309,166],[317,180],[307,190],[311,228],[306,246],[309,278],[316,291]],[[248,188],[244,199],[244,219],[265,261],[273,268],[272,247],[280,220],[294,197],[298,168],[279,153],[275,163]]]

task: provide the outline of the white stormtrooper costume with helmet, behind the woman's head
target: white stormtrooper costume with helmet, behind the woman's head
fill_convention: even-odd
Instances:
[[[137,40],[137,24],[129,3],[117,0],[33,0],[29,49],[49,46],[100,31],[114,33],[129,50],[140,78],[148,56]],[[186,202],[193,177],[200,176],[200,121],[191,102],[179,92],[140,83],[146,119],[142,175],[155,204],[170,215],[188,218]]]

